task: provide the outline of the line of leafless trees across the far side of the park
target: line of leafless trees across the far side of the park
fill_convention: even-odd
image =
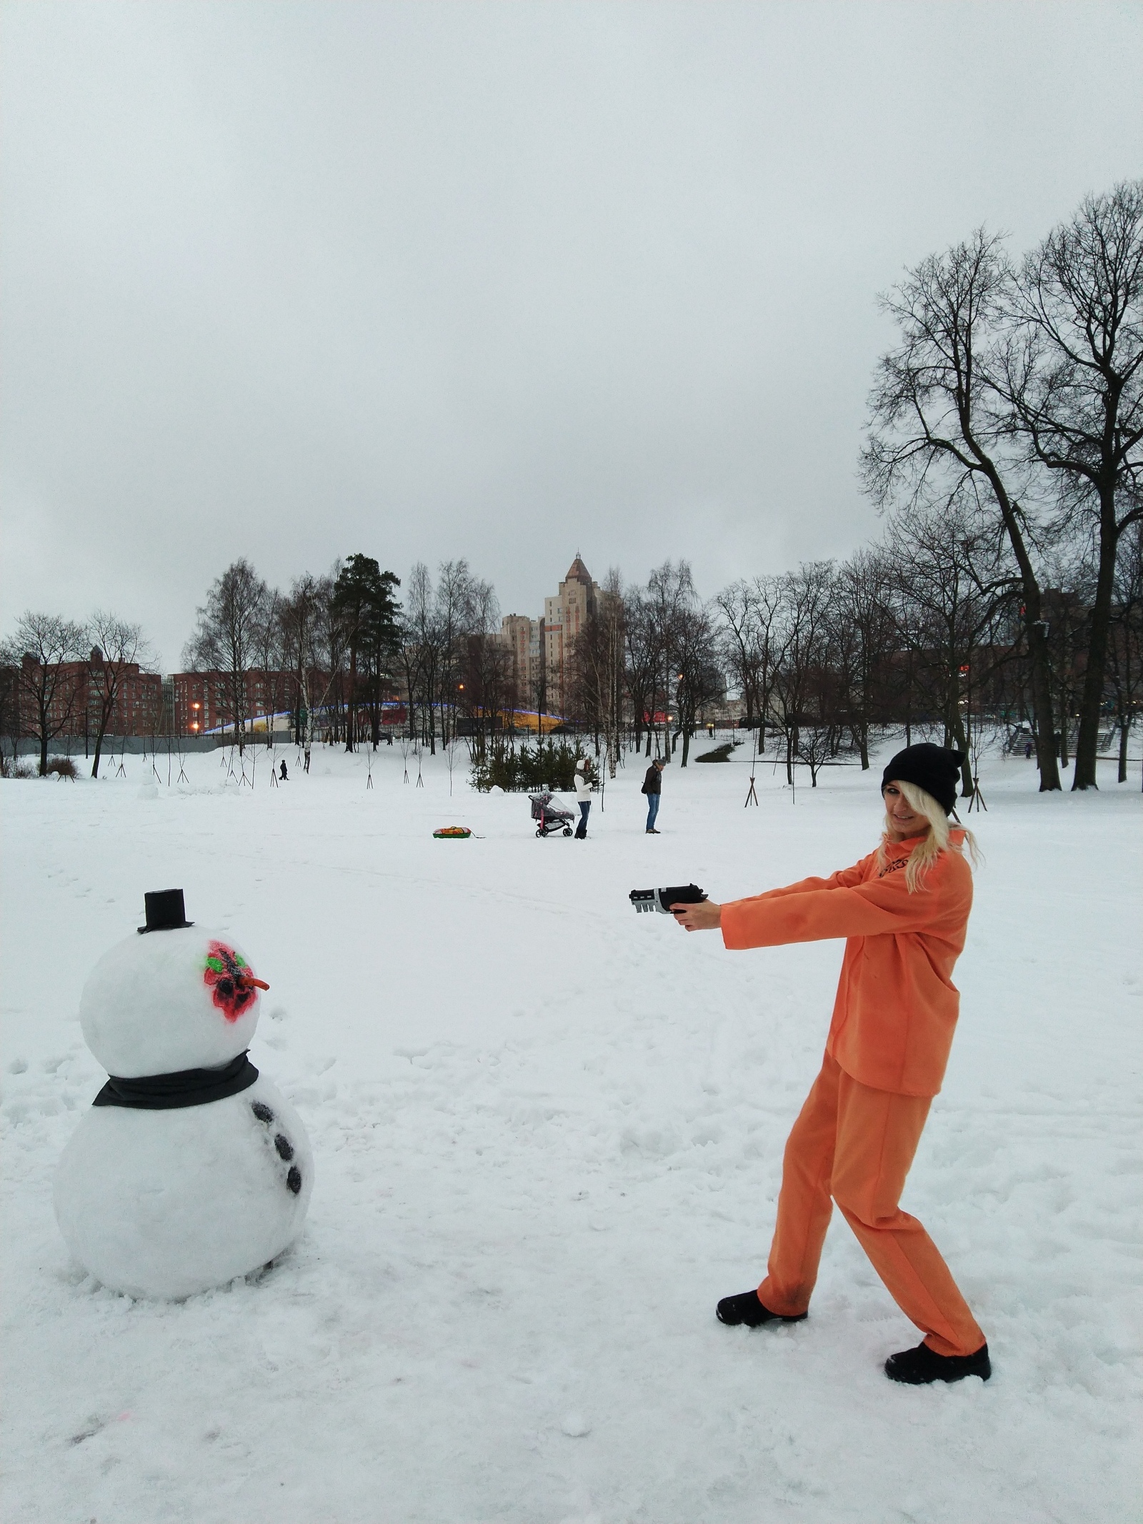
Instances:
[[[1073,757],[1073,788],[1094,786],[1113,736],[1125,780],[1143,664],[1141,297],[1143,181],[1085,198],[1021,259],[977,230],[920,261],[881,299],[898,335],[860,460],[885,515],[878,543],[709,600],[686,561],[645,587],[613,570],[561,674],[543,652],[521,664],[465,561],[436,582],[418,564],[401,588],[364,555],[287,591],[236,561],[184,664],[216,675],[239,745],[261,669],[288,678],[302,741],[320,725],[349,750],[376,745],[381,704],[399,695],[411,738],[434,750],[463,735],[486,767],[489,742],[512,745],[514,715],[543,725],[558,692],[611,773],[625,744],[681,744],[686,765],[703,719],[730,718],[728,684],[735,718],[776,741],[791,774],[805,764],[815,779],[843,750],[867,767],[884,727],[936,725],[969,757],[986,728],[1024,727],[1042,789]],[[111,623],[139,648],[136,626]],[[0,651],[0,721],[43,735],[44,762],[47,674],[90,639],[26,614]]]

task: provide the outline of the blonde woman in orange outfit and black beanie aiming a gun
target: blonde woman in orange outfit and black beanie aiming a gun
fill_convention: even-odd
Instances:
[[[924,1340],[890,1355],[885,1375],[920,1385],[992,1373],[988,1344],[916,1218],[898,1205],[933,1096],[940,1090],[960,997],[971,835],[949,828],[962,762],[928,742],[899,751],[881,792],[876,852],[831,878],[751,899],[672,907],[687,931],[719,927],[728,948],[846,937],[821,1073],[789,1134],[777,1225],[757,1291],[724,1297],[722,1323],[800,1323],[817,1280],[834,1202]]]

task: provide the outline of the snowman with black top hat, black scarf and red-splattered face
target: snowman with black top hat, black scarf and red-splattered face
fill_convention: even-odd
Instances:
[[[189,1297],[297,1237],[314,1163],[297,1113],[247,1058],[270,986],[186,919],[181,888],[145,899],[146,925],[84,986],[84,1038],[110,1079],[62,1152],[55,1213],[105,1286]]]

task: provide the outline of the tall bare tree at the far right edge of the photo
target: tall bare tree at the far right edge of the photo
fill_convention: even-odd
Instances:
[[[1096,588],[1073,788],[1096,786],[1116,553],[1143,515],[1143,180],[1087,197],[1029,253],[1006,393],[1029,460],[1058,482],[1064,518],[1090,527]]]

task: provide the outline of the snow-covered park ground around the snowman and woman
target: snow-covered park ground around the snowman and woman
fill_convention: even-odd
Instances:
[[[905,1205],[994,1379],[902,1388],[916,1343],[835,1218],[811,1317],[724,1329],[764,1271],[838,943],[725,952],[628,890],[728,899],[852,863],[879,770],[796,802],[759,767],[632,759],[587,843],[457,759],[314,754],[256,788],[6,782],[3,1512],[12,1524],[1126,1524],[1140,1518],[1140,794],[994,760],[960,1032]],[[1132,770],[1134,773],[1134,770]],[[416,777],[416,764],[411,768]],[[434,841],[466,823],[479,840]],[[181,885],[271,985],[255,1062],[317,1184],[294,1251],[180,1305],[69,1263],[52,1172],[102,1084],[96,957]]]

